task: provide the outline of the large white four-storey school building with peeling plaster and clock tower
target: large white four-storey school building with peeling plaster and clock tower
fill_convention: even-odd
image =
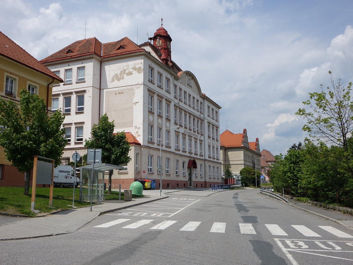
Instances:
[[[41,60],[64,80],[52,95],[52,110],[65,114],[63,163],[75,151],[86,153],[84,140],[107,113],[114,130],[127,134],[132,158],[114,172],[112,188],[129,188],[134,179],[156,179],[158,188],[161,166],[162,188],[221,183],[221,107],[202,93],[192,72],[174,63],[171,42],[160,27],[141,45],[127,37],[90,38]]]

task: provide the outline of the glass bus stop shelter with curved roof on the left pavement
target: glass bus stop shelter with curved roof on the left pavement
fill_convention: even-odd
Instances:
[[[86,166],[78,167],[81,172],[80,176],[80,201],[84,201],[86,198],[90,200],[90,197],[96,198],[99,202],[104,196],[104,173],[113,169],[123,169],[122,166],[110,165],[110,164],[91,164]],[[92,174],[93,170],[93,174]],[[92,178],[93,175],[93,178]],[[92,190],[93,184],[93,190]],[[92,193],[92,194],[91,194]]]

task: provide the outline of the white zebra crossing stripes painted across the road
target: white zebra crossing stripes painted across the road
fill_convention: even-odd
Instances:
[[[125,223],[128,221],[131,221],[131,219],[117,219],[117,220],[114,220],[114,221],[111,221],[108,223],[96,225],[96,226],[94,226],[94,228],[108,228],[110,226]],[[142,219],[137,222],[133,222],[131,224],[122,226],[121,228],[136,229],[141,226],[146,226],[148,224],[155,224],[154,226],[150,227],[149,229],[165,230],[176,223],[181,223],[181,222],[180,221],[173,221],[173,220],[166,220],[161,223],[155,224],[154,219]],[[181,224],[183,226],[179,229],[179,231],[195,231],[201,223],[202,222],[190,221],[190,222],[187,222],[186,224]],[[211,226],[211,229],[209,230],[209,232],[225,233],[226,232],[226,225],[227,225],[227,223],[215,222]],[[253,225],[251,223],[239,223],[238,225],[239,225],[240,234],[249,234],[249,235],[256,235],[257,234],[255,228],[253,227]],[[261,225],[259,225],[259,226],[261,226]],[[270,234],[272,234],[274,236],[288,236],[287,232],[289,232],[289,231],[286,232],[277,224],[264,224],[264,226],[265,226],[265,228],[267,228],[267,230],[270,232]],[[353,238],[352,235],[349,235],[346,232],[343,232],[343,231],[336,229],[332,226],[318,225],[318,226],[316,226],[316,227],[318,227],[318,231],[316,231],[316,232],[307,228],[305,225],[290,225],[290,226],[293,229],[287,229],[287,230],[290,230],[291,234],[293,234],[293,232],[299,232],[300,235],[306,236],[306,237],[322,237],[317,232],[320,233],[320,232],[326,231],[326,232],[328,232],[332,235],[335,235],[337,237],[340,237],[340,238]]]

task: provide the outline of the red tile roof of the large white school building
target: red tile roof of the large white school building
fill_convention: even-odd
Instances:
[[[62,48],[48,57],[42,59],[42,62],[55,61],[60,59],[75,58],[83,55],[95,54],[98,57],[105,58],[120,54],[143,51],[128,37],[124,37],[119,41],[101,43],[95,37],[79,40]]]

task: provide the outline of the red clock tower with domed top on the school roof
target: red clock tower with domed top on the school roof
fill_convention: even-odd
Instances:
[[[153,46],[155,46],[161,53],[161,58],[164,63],[172,61],[170,42],[172,38],[169,36],[166,29],[163,28],[163,18],[161,19],[161,27],[158,28],[153,36]]]

